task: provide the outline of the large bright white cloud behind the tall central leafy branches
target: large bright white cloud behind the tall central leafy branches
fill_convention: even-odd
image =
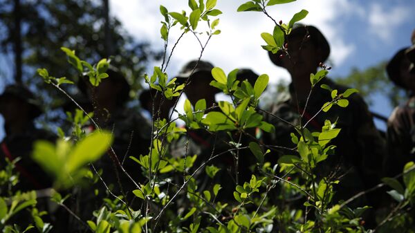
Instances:
[[[284,69],[274,66],[261,45],[261,32],[272,32],[273,21],[261,12],[237,12],[237,8],[245,1],[218,1],[218,7],[223,15],[219,15],[218,29],[221,35],[212,37],[205,50],[203,59],[220,66],[227,73],[234,68],[252,68],[255,72],[267,73],[270,80],[288,79],[289,75]],[[127,30],[139,39],[148,39],[157,48],[163,48],[159,28],[162,16],[158,6],[162,4],[169,11],[187,10],[187,1],[145,1],[145,0],[113,0],[112,13],[116,15]],[[296,1],[285,5],[269,8],[269,13],[275,20],[282,19],[288,22],[299,10],[306,9],[309,14],[304,24],[313,24],[320,28],[331,44],[331,61],[336,65],[342,64],[354,50],[351,44],[342,39],[345,26],[333,24],[344,15],[359,14],[361,8],[353,5],[350,0],[320,0]],[[173,35],[175,41],[179,34]],[[174,43],[174,42],[172,42]],[[171,48],[171,47],[170,47]],[[334,53],[335,52],[335,53]],[[200,46],[195,37],[188,33],[175,50],[172,63],[167,69],[169,75],[176,75],[178,69],[190,59],[199,57]]]

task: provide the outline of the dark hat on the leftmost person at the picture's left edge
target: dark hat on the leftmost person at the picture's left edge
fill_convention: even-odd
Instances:
[[[6,86],[3,93],[0,95],[0,102],[3,102],[6,97],[18,98],[30,105],[30,118],[37,118],[42,114],[39,100],[36,100],[35,95],[26,87],[20,84],[12,84]]]

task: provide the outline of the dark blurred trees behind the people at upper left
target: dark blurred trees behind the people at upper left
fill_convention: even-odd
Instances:
[[[59,49],[62,46],[76,50],[77,55],[91,63],[113,56],[111,63],[129,79],[131,95],[141,88],[140,76],[148,62],[158,57],[149,49],[147,42],[133,39],[122,28],[120,21],[109,15],[106,0],[0,0],[0,19],[0,53],[16,59],[21,57],[22,60],[21,65],[11,61],[10,64],[3,64],[0,74],[5,74],[4,69],[10,67],[16,67],[13,68],[15,71],[21,70],[21,75],[15,72],[13,81],[21,80],[42,90],[48,109],[55,109],[66,100],[42,80],[33,78],[36,69],[48,68],[57,77],[66,75],[71,76],[68,77],[71,80],[77,80],[77,73],[73,70],[62,69],[68,67]],[[20,50],[18,41],[21,41]],[[10,80],[10,77],[3,80]],[[75,89],[68,91],[76,93]]]

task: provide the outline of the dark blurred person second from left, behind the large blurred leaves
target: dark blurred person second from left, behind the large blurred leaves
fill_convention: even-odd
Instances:
[[[113,133],[111,147],[115,153],[110,149],[95,162],[95,166],[96,169],[102,169],[101,176],[108,189],[117,196],[126,195],[129,205],[136,208],[138,203],[131,202],[135,197],[132,191],[136,186],[124,174],[120,165],[136,183],[145,182],[142,171],[138,169],[139,165],[129,157],[138,158],[140,154],[146,155],[149,152],[151,124],[138,111],[127,108],[130,85],[118,68],[110,65],[106,73],[109,77],[104,78],[98,86],[92,86],[89,77],[86,76],[78,83],[82,93],[92,103],[95,122],[100,129]],[[95,130],[95,125],[91,124],[87,130]],[[94,189],[99,190],[98,196],[95,196]],[[102,198],[109,196],[107,187],[100,180],[94,186],[75,188],[73,193],[78,198],[72,198],[74,203],[71,209],[82,219],[93,218],[93,210],[102,205]],[[71,225],[74,229],[82,228],[75,220],[71,221]]]

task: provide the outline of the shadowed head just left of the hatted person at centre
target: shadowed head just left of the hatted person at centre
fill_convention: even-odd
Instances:
[[[140,104],[143,109],[150,113],[153,120],[156,120],[158,117],[161,119],[169,119],[170,110],[174,106],[174,102],[176,102],[176,98],[172,100],[164,98],[162,102],[162,95],[163,93],[157,93],[157,90],[153,88],[145,89],[140,93]],[[153,110],[155,115],[152,115]],[[158,114],[159,110],[160,113]]]

